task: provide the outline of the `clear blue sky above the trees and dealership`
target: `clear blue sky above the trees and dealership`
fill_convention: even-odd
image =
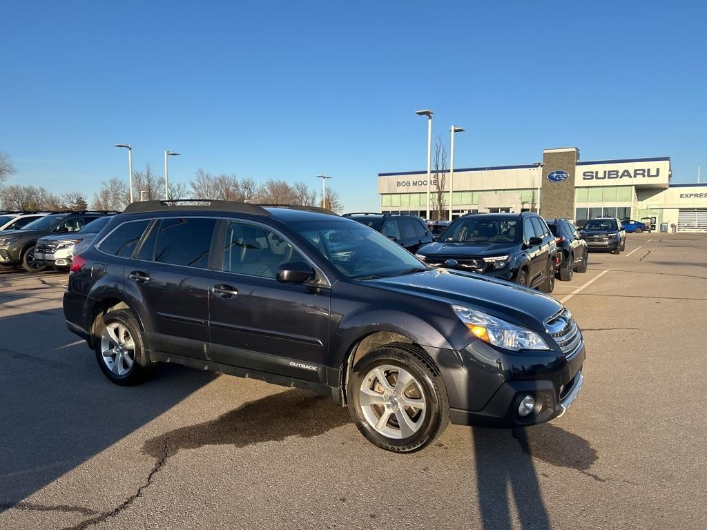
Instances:
[[[0,4],[0,150],[15,184],[89,196],[150,163],[320,185],[378,210],[378,172],[672,157],[707,179],[707,8],[653,1],[11,1]]]

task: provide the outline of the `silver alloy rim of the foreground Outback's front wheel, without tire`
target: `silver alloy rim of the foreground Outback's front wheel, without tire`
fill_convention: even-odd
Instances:
[[[420,430],[427,408],[422,385],[404,368],[380,365],[363,378],[358,399],[368,424],[381,435],[402,440]]]

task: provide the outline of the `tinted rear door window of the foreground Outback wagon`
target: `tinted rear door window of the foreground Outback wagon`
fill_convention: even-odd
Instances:
[[[206,268],[216,219],[168,218],[160,223],[154,261]]]

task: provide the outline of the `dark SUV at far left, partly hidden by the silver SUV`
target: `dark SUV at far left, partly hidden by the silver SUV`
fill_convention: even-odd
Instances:
[[[42,235],[78,232],[107,211],[63,211],[33,220],[21,230],[0,232],[0,265],[21,265],[25,271],[42,271],[46,265],[35,261],[35,245]],[[115,213],[112,211],[110,213]]]

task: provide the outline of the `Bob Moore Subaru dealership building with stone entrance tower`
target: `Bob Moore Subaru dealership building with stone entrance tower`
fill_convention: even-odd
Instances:
[[[669,157],[584,161],[579,154],[575,147],[545,149],[542,164],[467,167],[453,174],[447,170],[442,218],[539,208],[546,218],[654,218],[658,225],[675,224],[678,230],[707,230],[707,184],[670,182]],[[433,171],[431,198],[437,193],[436,180]],[[384,213],[426,217],[427,189],[426,171],[378,174]]]

